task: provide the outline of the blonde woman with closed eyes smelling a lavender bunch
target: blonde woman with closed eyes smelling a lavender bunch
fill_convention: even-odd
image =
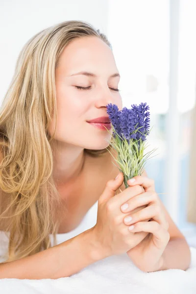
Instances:
[[[0,230],[9,237],[0,278],[66,277],[125,252],[144,271],[189,267],[153,180],[145,172],[124,189],[106,149],[119,80],[107,38],[87,23],[51,26],[25,44],[0,110]],[[96,225],[57,245],[96,201]]]

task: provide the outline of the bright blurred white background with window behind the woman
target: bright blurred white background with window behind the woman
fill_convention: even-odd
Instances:
[[[150,106],[149,148],[158,149],[147,163],[148,176],[193,246],[196,196],[190,175],[195,163],[190,154],[196,148],[192,140],[196,132],[195,15],[196,0],[0,0],[0,101],[20,50],[40,30],[82,20],[107,35],[122,76],[123,106],[141,102]]]

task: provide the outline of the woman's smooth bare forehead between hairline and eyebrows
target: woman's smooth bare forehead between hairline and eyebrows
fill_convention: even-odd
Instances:
[[[98,37],[81,37],[73,40],[63,50],[57,69],[69,74],[75,71],[118,71],[112,50]]]

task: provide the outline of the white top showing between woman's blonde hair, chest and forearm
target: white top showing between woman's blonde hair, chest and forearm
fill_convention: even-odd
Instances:
[[[60,244],[64,241],[67,241],[80,233],[92,228],[97,223],[97,215],[98,215],[98,201],[88,210],[86,215],[80,224],[73,229],[72,231],[64,234],[57,234],[56,240],[57,244]],[[50,235],[51,245],[53,246],[53,238]],[[4,231],[0,231],[0,262],[5,261],[7,259],[6,254],[8,250],[9,243],[9,232],[5,233]]]

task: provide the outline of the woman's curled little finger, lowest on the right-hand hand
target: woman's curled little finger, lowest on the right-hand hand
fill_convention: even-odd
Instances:
[[[140,221],[128,227],[130,232],[148,232],[152,233],[158,241],[165,241],[168,243],[170,234],[156,221]]]

